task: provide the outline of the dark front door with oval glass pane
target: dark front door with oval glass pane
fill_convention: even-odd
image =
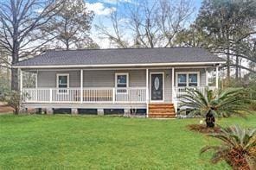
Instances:
[[[163,100],[163,74],[151,74],[151,100]]]

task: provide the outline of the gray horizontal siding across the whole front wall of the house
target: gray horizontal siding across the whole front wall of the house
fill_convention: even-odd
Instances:
[[[146,86],[146,71],[139,70],[85,70],[83,72],[84,87],[114,87],[115,73],[128,72],[130,87]],[[149,69],[149,72],[164,72],[164,103],[170,103],[172,99],[172,70],[170,69]],[[200,85],[206,85],[206,73],[204,68],[176,68],[175,72],[200,72]],[[80,87],[80,70],[75,71],[39,71],[38,88],[56,87],[56,74],[69,73],[69,87]],[[150,76],[150,73],[149,73]],[[176,73],[175,73],[176,76]],[[175,77],[176,81],[176,77]],[[176,85],[176,82],[175,82]],[[149,78],[150,88],[150,78]]]

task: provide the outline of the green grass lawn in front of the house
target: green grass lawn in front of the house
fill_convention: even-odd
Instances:
[[[0,169],[229,169],[199,155],[216,141],[189,131],[190,123],[199,119],[0,116]],[[218,123],[256,127],[256,116]]]

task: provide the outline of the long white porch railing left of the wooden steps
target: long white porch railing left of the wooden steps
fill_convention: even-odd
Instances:
[[[25,103],[146,103],[145,87],[23,88]],[[82,98],[80,98],[82,94]]]

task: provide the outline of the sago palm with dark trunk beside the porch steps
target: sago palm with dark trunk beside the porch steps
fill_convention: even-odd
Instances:
[[[232,114],[245,116],[248,110],[247,91],[243,88],[229,88],[221,91],[186,89],[180,97],[179,112],[189,111],[190,115],[206,116],[208,127],[214,127],[214,116],[228,117]]]

